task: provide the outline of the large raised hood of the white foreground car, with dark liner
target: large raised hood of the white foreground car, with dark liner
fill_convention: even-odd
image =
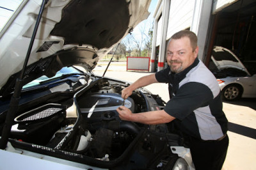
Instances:
[[[24,64],[41,0],[23,1],[0,34],[0,96],[13,91]],[[79,65],[90,72],[99,59],[142,20],[149,1],[54,0],[45,5],[36,33],[24,84],[63,66]]]

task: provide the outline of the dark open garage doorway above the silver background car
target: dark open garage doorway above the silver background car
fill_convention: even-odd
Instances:
[[[239,0],[212,15],[205,64],[214,46],[225,47],[242,61],[256,61],[256,1]]]

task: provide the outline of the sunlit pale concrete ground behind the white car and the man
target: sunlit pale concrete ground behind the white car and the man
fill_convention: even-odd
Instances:
[[[101,63],[94,69],[96,75],[103,75],[108,63]],[[109,65],[105,77],[134,82],[150,72],[126,71],[125,62],[113,62]],[[146,87],[168,101],[168,85],[151,84]],[[256,98],[241,98],[237,102],[223,102],[228,123],[230,140],[223,170],[256,169]]]

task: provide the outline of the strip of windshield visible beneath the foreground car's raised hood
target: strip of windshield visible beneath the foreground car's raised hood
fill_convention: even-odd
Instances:
[[[74,68],[72,66],[70,66],[70,67],[66,66],[66,67],[61,68],[61,70],[58,71],[56,73],[56,75],[54,75],[54,77],[49,78],[49,77],[43,75],[43,76],[39,77],[38,79],[35,79],[34,81],[31,81],[28,84],[24,85],[22,87],[22,89],[32,88],[32,87],[35,87],[35,86],[40,86],[40,82],[42,82],[42,81],[48,81],[50,79],[56,79],[58,77],[61,77],[63,75],[70,74],[70,73],[81,74],[81,72],[79,72],[79,70],[77,70],[76,68]]]

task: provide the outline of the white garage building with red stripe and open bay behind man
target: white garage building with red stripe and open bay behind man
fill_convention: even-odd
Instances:
[[[231,50],[241,61],[256,62],[255,14],[255,0],[159,0],[154,12],[150,70],[167,66],[168,40],[182,29],[198,36],[198,58],[206,66],[214,46]]]

